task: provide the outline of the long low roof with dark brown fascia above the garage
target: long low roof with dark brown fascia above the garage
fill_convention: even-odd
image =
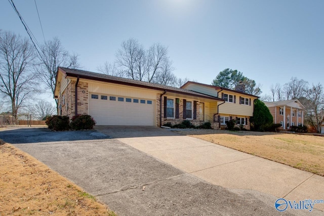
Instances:
[[[189,96],[194,96],[194,97],[223,101],[223,99],[216,98],[213,96],[196,93],[196,92],[186,90],[186,89],[170,87],[168,85],[156,84],[156,83],[152,83],[152,82],[144,82],[144,81],[139,81],[139,80],[134,80],[134,79],[122,78],[122,77],[111,76],[111,75],[106,75],[106,74],[102,74],[102,73],[95,73],[95,72],[90,72],[90,71],[85,71],[85,70],[78,70],[78,69],[71,69],[71,68],[64,68],[64,67],[58,67],[58,71],[62,71],[62,73],[65,75],[65,77],[67,77],[67,76],[79,77],[79,78],[84,78],[84,79],[116,83],[116,84],[124,84],[124,85],[133,86],[133,87],[140,87],[140,88],[158,90],[158,91],[163,91],[163,92],[166,91],[166,92],[178,93],[178,94],[189,95]],[[57,74],[59,74],[59,73],[57,73]]]

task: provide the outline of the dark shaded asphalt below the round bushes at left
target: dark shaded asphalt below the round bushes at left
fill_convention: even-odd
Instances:
[[[110,137],[97,132],[96,130],[53,132],[48,128],[17,127],[0,131],[0,139],[11,144],[23,144],[77,140],[100,140],[110,139]]]

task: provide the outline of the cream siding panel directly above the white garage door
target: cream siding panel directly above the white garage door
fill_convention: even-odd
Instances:
[[[89,83],[89,92],[156,100],[156,92],[149,92],[136,88],[123,87],[123,85]]]

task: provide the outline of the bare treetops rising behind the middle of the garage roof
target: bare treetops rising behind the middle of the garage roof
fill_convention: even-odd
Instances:
[[[148,50],[137,39],[123,41],[116,53],[116,66],[122,77],[131,79],[172,84],[175,79],[168,48],[154,44]]]

